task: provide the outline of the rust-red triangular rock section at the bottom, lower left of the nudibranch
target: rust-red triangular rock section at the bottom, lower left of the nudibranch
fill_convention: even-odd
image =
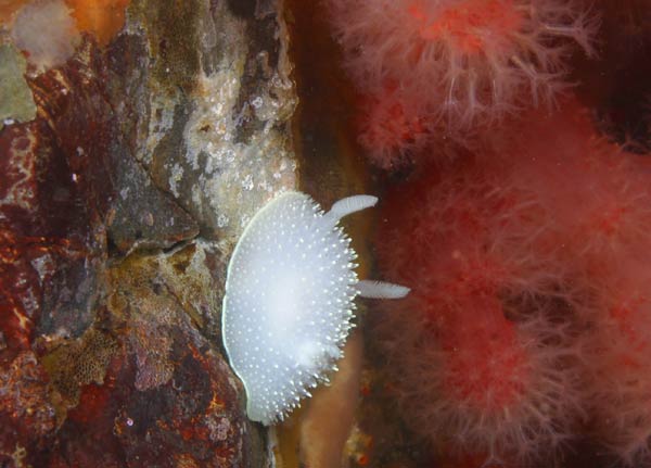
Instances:
[[[55,450],[28,453],[33,466],[261,466],[240,384],[168,288],[163,262],[112,268],[95,328],[43,357],[52,400],[69,410]]]

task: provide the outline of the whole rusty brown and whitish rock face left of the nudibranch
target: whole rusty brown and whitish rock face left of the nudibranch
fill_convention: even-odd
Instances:
[[[268,466],[219,314],[244,225],[296,184],[281,5],[132,1],[42,73],[2,28],[0,465]]]

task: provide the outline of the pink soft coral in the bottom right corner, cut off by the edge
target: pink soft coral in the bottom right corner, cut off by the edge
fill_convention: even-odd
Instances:
[[[641,256],[640,258],[642,258]],[[621,258],[598,281],[590,350],[598,435],[626,466],[651,463],[651,271],[639,258]]]

